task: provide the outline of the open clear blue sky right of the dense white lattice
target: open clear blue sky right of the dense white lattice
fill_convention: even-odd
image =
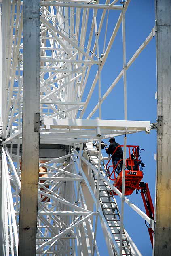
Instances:
[[[119,11],[110,11],[107,31],[108,44],[110,35],[118,19]],[[97,22],[99,22],[97,17]],[[154,1],[132,0],[129,4],[126,13],[126,56],[127,62],[132,55],[137,51],[139,46],[144,42],[155,25],[155,7]],[[103,53],[103,38],[105,26],[99,38],[100,53]],[[129,120],[146,120],[156,122],[156,104],[154,94],[156,92],[156,45],[155,37],[150,41],[144,51],[135,60],[132,66],[127,71],[127,104],[128,104],[128,119]],[[89,77],[87,88],[91,87],[94,79],[97,66],[92,68],[92,73]],[[112,49],[104,65],[101,73],[101,92],[102,95],[117,75],[122,70],[122,25],[116,36],[116,40],[112,45]],[[84,93],[84,98],[87,97],[88,90]],[[98,90],[97,85],[84,118],[89,115],[91,110],[97,104]],[[93,115],[92,119],[98,116],[98,111]],[[124,119],[123,111],[123,79],[114,87],[110,95],[102,104],[102,119]],[[116,141],[123,144],[123,137],[117,137]],[[144,168],[144,182],[149,184],[152,200],[154,203],[155,197],[155,175],[156,162],[154,154],[156,153],[156,131],[152,130],[149,135],[145,132],[132,134],[127,136],[127,145],[139,145],[145,149],[142,151],[141,158],[146,164]],[[106,153],[103,150],[103,154]],[[135,203],[140,209],[145,212],[144,205],[141,199],[141,194],[133,192],[129,196],[131,202]],[[118,198],[117,198],[118,200]],[[118,200],[120,204],[120,199]],[[133,241],[141,251],[142,255],[152,255],[152,246],[148,235],[148,230],[144,220],[137,215],[129,206],[125,205],[125,221],[124,225]],[[100,231],[100,228],[99,228]],[[101,241],[101,255],[108,255],[105,245],[102,244],[103,235],[99,232],[98,239]]]

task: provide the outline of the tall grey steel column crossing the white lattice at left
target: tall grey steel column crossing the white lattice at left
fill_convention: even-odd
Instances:
[[[23,134],[19,256],[36,255],[40,128],[40,0],[23,0]]]

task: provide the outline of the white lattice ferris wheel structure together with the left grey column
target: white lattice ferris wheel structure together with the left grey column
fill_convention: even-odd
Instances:
[[[106,255],[140,256],[123,225],[125,203],[155,229],[155,221],[125,196],[125,176],[122,192],[110,182],[101,151],[103,140],[122,135],[124,170],[127,136],[156,128],[148,120],[127,119],[127,70],[156,34],[154,26],[126,61],[129,3],[1,1],[1,255],[102,255],[101,226]],[[123,68],[102,86],[118,33]],[[102,104],[120,79],[124,119],[105,120]]]

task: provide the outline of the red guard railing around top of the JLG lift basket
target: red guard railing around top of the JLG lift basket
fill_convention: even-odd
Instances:
[[[119,145],[118,147],[124,147],[124,145]],[[114,155],[118,149],[118,147],[116,147],[116,149],[114,150],[113,154]],[[135,146],[135,145],[127,145],[127,148],[128,148],[128,151],[129,151],[129,158],[126,159],[126,169],[129,170],[129,171],[140,171],[139,170],[139,162],[141,162],[139,160],[139,153],[138,153],[138,150],[139,149],[139,146]],[[132,152],[131,153],[131,148],[132,148]],[[112,156],[110,157],[110,160],[112,159]],[[119,168],[119,164],[123,161],[123,159],[120,159],[116,165],[114,165],[114,162],[112,160],[112,165],[109,165],[108,164],[110,163],[110,160],[108,160],[107,164],[106,164],[106,170],[108,171],[108,175],[109,175],[109,178],[113,181],[116,180],[116,171],[118,170]],[[137,162],[137,164],[135,164]],[[110,168],[113,167],[113,170],[112,172],[110,173]],[[122,171],[122,170],[121,170]],[[112,179],[112,174],[114,174],[114,179]]]

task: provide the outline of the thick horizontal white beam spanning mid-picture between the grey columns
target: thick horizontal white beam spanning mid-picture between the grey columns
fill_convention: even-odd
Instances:
[[[92,129],[99,126],[101,129],[114,130],[141,130],[150,132],[150,121],[129,121],[129,120],[93,120],[93,119],[57,119],[44,118],[46,129],[49,128],[86,128]]]

